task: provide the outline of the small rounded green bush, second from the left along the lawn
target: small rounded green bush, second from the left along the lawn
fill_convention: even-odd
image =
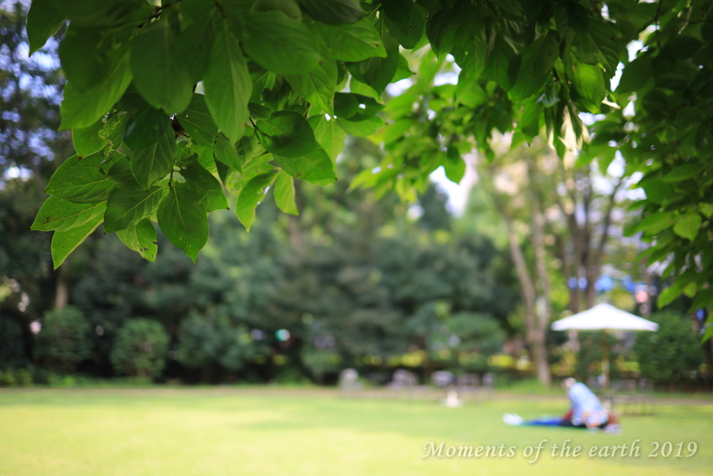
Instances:
[[[111,350],[117,373],[153,378],[163,370],[168,352],[168,334],[150,319],[130,319],[118,330]]]

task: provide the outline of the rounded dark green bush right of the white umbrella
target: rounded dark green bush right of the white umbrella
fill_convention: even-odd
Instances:
[[[659,330],[640,333],[634,345],[642,375],[673,385],[685,373],[699,370],[704,353],[690,320],[673,311],[655,313],[650,319]]]

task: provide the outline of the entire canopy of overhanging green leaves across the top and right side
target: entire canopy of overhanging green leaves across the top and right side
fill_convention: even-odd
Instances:
[[[344,131],[375,133],[381,92],[412,74],[399,48],[430,44],[418,81],[386,108],[389,155],[356,185],[414,199],[441,165],[459,181],[461,153],[493,156],[493,129],[523,143],[544,127],[560,156],[584,150],[580,165],[605,169],[621,153],[627,173],[645,173],[646,218],[632,232],[656,239],[650,259],[675,251],[662,303],[701,290],[706,305],[711,15],[688,0],[34,0],[31,52],[70,20],[61,128],[78,150],[34,228],[56,230],[56,265],[101,222],[152,260],[152,220],[195,260],[205,214],[227,207],[218,178],[247,228],[270,186],[297,213],[294,178],[333,182]],[[448,54],[458,83],[434,87]],[[590,133],[582,111],[607,118]]]

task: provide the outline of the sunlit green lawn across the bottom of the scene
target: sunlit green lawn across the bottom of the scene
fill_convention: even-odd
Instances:
[[[0,390],[0,475],[710,475],[713,405],[659,405],[623,417],[620,435],[508,427],[503,412],[558,414],[564,399],[518,397],[445,408],[356,400],[319,390]],[[547,438],[538,461],[523,457]],[[579,457],[551,457],[571,439]],[[593,445],[630,445],[640,457],[589,457]],[[444,457],[423,458],[426,442]],[[692,457],[647,457],[650,442],[697,442]],[[515,446],[515,457],[445,457],[449,445]]]

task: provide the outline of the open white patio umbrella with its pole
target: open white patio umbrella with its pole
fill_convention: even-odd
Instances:
[[[610,304],[597,304],[568,318],[555,320],[553,330],[601,330],[602,331],[602,373],[604,386],[609,386],[609,345],[607,330],[658,330],[659,325],[650,320],[615,308]]]

